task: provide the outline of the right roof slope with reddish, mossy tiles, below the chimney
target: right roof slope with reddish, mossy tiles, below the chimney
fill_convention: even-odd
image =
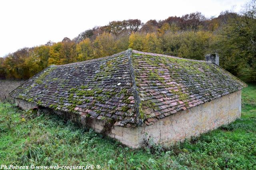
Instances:
[[[213,63],[133,52],[142,106],[151,105],[147,109],[158,113],[152,118],[162,119],[246,87],[246,84]],[[143,77],[140,74],[142,71]],[[153,80],[156,85],[151,83],[143,91],[140,86],[142,78],[143,82]],[[145,92],[150,92],[150,98],[146,97]]]

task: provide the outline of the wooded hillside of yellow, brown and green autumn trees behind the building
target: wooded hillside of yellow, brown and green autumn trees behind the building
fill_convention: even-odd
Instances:
[[[222,12],[206,18],[200,12],[166,20],[112,21],[80,33],[74,39],[19,49],[0,58],[0,78],[28,79],[50,64],[67,64],[105,57],[132,48],[204,60],[220,54],[220,66],[239,77],[256,81],[256,2],[242,12]]]

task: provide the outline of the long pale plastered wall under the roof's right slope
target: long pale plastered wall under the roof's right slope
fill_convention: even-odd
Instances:
[[[216,129],[240,116],[241,90],[170,115],[145,127],[143,131],[152,136],[156,143],[170,145]]]

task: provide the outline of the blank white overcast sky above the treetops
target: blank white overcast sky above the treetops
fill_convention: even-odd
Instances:
[[[113,20],[164,20],[202,12],[218,16],[239,12],[246,0],[1,0],[0,57],[48,40],[73,39],[79,33]]]

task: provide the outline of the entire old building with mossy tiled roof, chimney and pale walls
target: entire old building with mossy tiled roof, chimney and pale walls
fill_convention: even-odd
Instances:
[[[72,119],[129,147],[144,134],[170,145],[241,114],[246,84],[218,66],[128,49],[104,57],[51,65],[10,93],[22,109],[37,107]]]

